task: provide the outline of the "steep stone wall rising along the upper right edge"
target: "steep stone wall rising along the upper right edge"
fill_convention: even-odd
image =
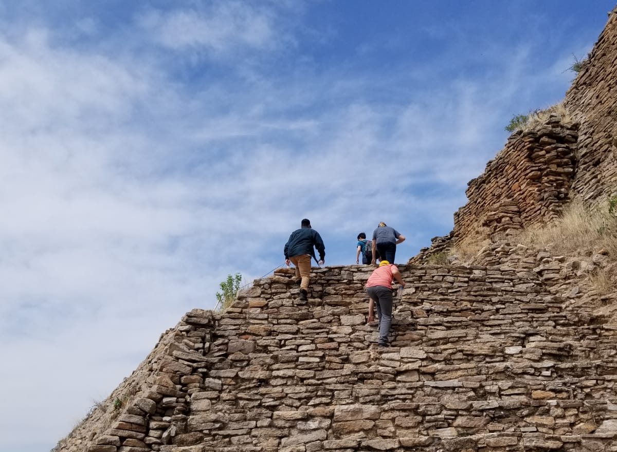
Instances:
[[[565,106],[580,121],[573,191],[606,201],[617,193],[617,8],[566,93]]]

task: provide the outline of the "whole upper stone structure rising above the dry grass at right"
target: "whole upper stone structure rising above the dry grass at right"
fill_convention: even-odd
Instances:
[[[489,237],[554,220],[574,198],[605,203],[617,194],[617,9],[584,60],[563,105],[574,122],[552,115],[510,136],[469,183],[468,202],[454,214],[448,236],[434,237],[410,263]]]

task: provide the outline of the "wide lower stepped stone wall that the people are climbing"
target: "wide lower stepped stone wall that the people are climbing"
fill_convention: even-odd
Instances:
[[[191,311],[122,428],[87,450],[617,446],[615,332],[566,309],[544,268],[400,269],[391,348],[365,324],[368,266],[313,269],[308,302],[281,269],[223,315]]]

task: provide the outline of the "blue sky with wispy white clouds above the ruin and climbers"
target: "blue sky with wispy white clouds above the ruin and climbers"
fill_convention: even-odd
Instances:
[[[51,450],[218,283],[449,233],[615,0],[0,0],[0,452]]]

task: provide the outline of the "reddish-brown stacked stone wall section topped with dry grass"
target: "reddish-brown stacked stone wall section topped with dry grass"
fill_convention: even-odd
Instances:
[[[553,115],[545,126],[513,134],[505,148],[468,184],[468,203],[454,214],[455,238],[520,229],[552,220],[574,176],[577,125]]]

